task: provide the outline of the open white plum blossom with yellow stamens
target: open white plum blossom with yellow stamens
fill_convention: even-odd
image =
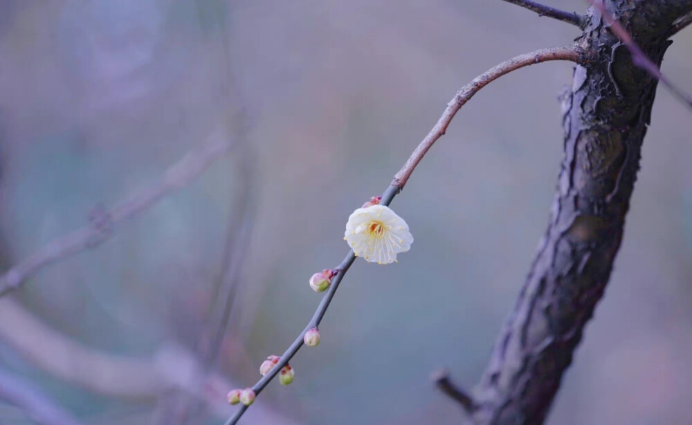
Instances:
[[[344,239],[356,256],[377,264],[397,261],[397,254],[408,251],[413,242],[406,221],[383,205],[355,210],[348,217]]]

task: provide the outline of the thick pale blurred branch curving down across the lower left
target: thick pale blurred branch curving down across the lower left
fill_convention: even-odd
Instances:
[[[162,344],[154,356],[142,358],[85,347],[46,326],[11,296],[0,300],[0,340],[54,377],[109,397],[145,400],[179,390],[219,415],[233,385],[206,373],[192,353],[177,345]]]

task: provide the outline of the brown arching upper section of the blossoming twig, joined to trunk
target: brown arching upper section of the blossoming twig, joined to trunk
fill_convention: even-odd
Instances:
[[[511,71],[523,68],[524,66],[540,64],[540,62],[547,62],[549,60],[570,60],[579,64],[585,64],[586,62],[590,62],[590,57],[585,51],[576,46],[542,48],[535,52],[513,57],[510,60],[493,66],[481,75],[478,75],[472,82],[466,84],[462,89],[457,91],[456,96],[447,104],[447,108],[437,121],[437,124],[435,124],[435,127],[432,127],[428,135],[421,141],[408,161],[406,161],[406,164],[404,164],[401,170],[394,176],[392,185],[402,189],[403,186],[406,186],[406,181],[411,177],[411,173],[414,168],[416,168],[416,165],[423,159],[423,156],[430,150],[430,147],[432,147],[435,141],[444,135],[457,111],[459,111],[459,109],[461,109],[480,89],[490,82],[502,77],[502,75],[511,73]]]

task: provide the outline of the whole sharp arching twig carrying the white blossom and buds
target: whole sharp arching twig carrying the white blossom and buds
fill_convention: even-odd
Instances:
[[[466,84],[466,86],[462,87],[461,90],[457,91],[456,96],[448,103],[447,108],[437,121],[437,124],[435,124],[435,127],[432,127],[432,130],[430,130],[428,135],[423,139],[423,141],[421,141],[416,150],[411,154],[408,161],[406,161],[406,164],[404,164],[401,170],[397,172],[390,186],[382,194],[380,204],[388,206],[390,202],[392,202],[392,199],[394,199],[394,197],[401,192],[401,189],[406,186],[406,181],[408,181],[408,178],[416,168],[416,165],[418,165],[421,159],[423,159],[426,152],[430,150],[432,144],[435,143],[435,141],[437,141],[437,139],[446,132],[449,123],[457,111],[464,106],[464,104],[468,102],[468,100],[471,99],[471,97],[473,97],[477,91],[489,84],[489,82],[496,80],[497,78],[500,78],[502,75],[511,71],[520,69],[523,66],[538,64],[540,62],[546,62],[549,60],[569,60],[583,64],[588,62],[588,59],[588,55],[586,55],[578,46],[540,49],[525,55],[513,57],[512,59],[502,62],[497,66],[493,66],[493,68],[489,69],[485,73],[482,73],[472,82]],[[322,318],[327,312],[329,303],[331,302],[332,298],[334,298],[336,289],[338,289],[343,276],[348,271],[351,264],[353,264],[354,260],[356,260],[356,255],[354,255],[353,251],[349,251],[343,261],[336,267],[338,273],[334,275],[334,278],[331,281],[331,286],[329,289],[327,289],[325,296],[322,297],[322,301],[320,301],[320,305],[318,305],[315,314],[313,314],[307,326],[302,330],[302,332],[300,332],[298,337],[295,338],[295,341],[293,341],[288,350],[282,354],[280,361],[273,368],[271,368],[270,372],[264,375],[260,381],[255,383],[255,386],[252,388],[255,391],[255,395],[259,395],[269,381],[271,381],[284,367],[284,365],[289,363],[293,356],[295,356],[295,353],[300,350],[300,347],[303,345],[303,336],[305,332],[313,327],[318,327],[322,321]],[[224,425],[236,424],[247,409],[248,406],[241,406]]]

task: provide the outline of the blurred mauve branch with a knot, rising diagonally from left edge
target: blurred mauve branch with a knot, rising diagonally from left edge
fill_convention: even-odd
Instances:
[[[109,211],[94,210],[91,213],[90,226],[84,226],[54,239],[24,261],[13,266],[0,276],[0,297],[19,287],[26,278],[48,264],[101,244],[111,237],[113,225],[135,217],[168,193],[181,188],[199,176],[212,163],[224,156],[232,145],[222,136],[217,135],[212,139],[200,150],[188,152],[183,156],[178,163],[165,172],[163,179],[158,183],[116,204]]]

